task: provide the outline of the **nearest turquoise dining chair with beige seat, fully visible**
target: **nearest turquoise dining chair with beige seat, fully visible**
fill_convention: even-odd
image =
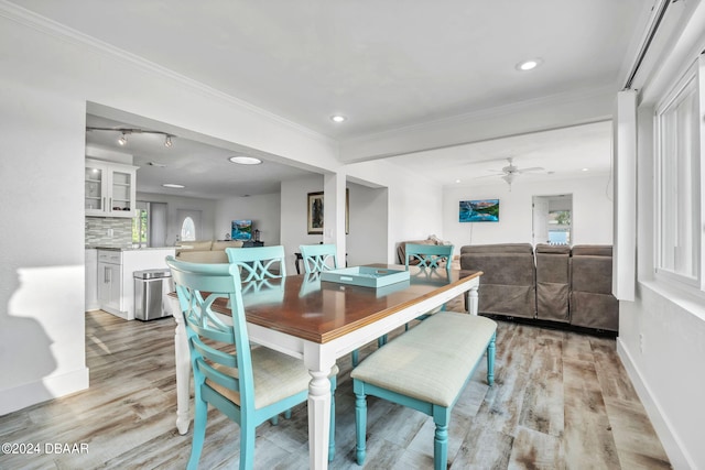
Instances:
[[[194,376],[194,430],[187,468],[198,467],[208,405],[213,405],[240,426],[239,468],[252,469],[257,426],[306,402],[308,370],[300,359],[250,347],[237,264],[188,263],[173,256],[166,259],[166,264],[184,318]],[[226,299],[230,315],[214,311],[214,303],[226,305]],[[329,460],[335,455],[333,396],[337,372],[334,367],[329,376]]]

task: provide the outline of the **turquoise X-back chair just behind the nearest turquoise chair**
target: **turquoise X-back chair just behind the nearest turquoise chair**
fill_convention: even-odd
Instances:
[[[286,275],[284,247],[281,244],[274,247],[226,248],[225,252],[230,264],[237,264],[240,267],[243,283],[284,277]]]

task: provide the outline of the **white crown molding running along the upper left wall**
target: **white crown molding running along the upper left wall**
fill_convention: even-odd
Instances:
[[[223,101],[227,101],[232,106],[242,108],[253,114],[274,121],[279,124],[285,125],[296,132],[306,134],[307,136],[313,138],[319,142],[325,142],[325,143],[334,144],[337,146],[337,140],[332,139],[328,135],[313,131],[310,128],[301,125],[294,121],[290,121],[289,119],[282,118],[279,114],[267,111],[248,101],[234,97],[232,95],[223,92],[216,88],[213,88],[208,85],[205,85],[185,75],[178,74],[170,68],[163,67],[156,63],[148,61],[137,54],[132,54],[130,52],[123,51],[119,47],[116,47],[111,44],[108,44],[88,34],[74,30],[73,28],[69,28],[65,24],[58,23],[45,17],[42,17],[37,13],[34,13],[30,10],[19,7],[8,0],[0,0],[0,17],[6,18],[15,23],[22,24],[24,26],[28,26],[40,33],[46,34],[48,36],[53,36],[57,40],[65,41],[67,43],[72,43],[78,46],[89,47],[99,54],[130,64],[144,72],[149,72],[155,75],[161,75],[164,78],[178,83],[180,85],[186,88],[196,90],[210,98],[216,98]]]

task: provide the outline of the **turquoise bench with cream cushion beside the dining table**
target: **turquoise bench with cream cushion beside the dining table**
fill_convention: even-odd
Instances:
[[[373,395],[433,416],[435,470],[448,460],[451,411],[487,351],[487,382],[495,382],[497,324],[441,311],[371,353],[350,373],[355,392],[357,463],[366,457],[367,398]]]

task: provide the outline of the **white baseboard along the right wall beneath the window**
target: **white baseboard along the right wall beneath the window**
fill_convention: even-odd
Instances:
[[[687,452],[683,449],[682,442],[679,440],[677,436],[673,434],[671,424],[663,414],[659,403],[653,400],[653,394],[649,390],[649,386],[643,382],[639,369],[619,337],[617,338],[617,354],[627,370],[627,374],[637,391],[637,395],[639,395],[639,400],[641,400],[641,403],[647,411],[647,415],[661,440],[661,445],[663,445],[666,456],[669,456],[671,466],[676,470],[696,468]]]

